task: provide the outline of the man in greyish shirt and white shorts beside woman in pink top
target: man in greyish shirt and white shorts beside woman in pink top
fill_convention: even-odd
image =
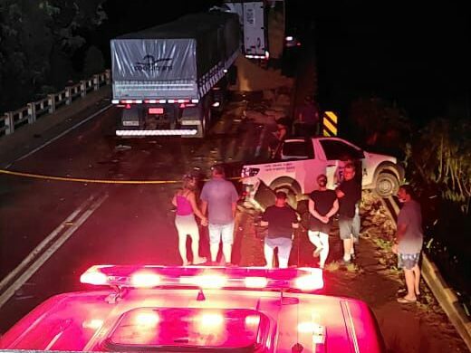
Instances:
[[[212,262],[216,262],[221,240],[224,259],[226,263],[231,262],[238,198],[235,186],[225,179],[224,168],[212,167],[212,177],[201,191],[201,212],[206,215],[208,210],[209,250]]]

